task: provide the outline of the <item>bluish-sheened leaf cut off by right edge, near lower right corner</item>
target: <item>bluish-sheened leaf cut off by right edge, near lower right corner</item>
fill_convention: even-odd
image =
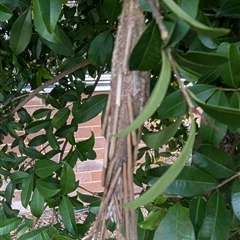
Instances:
[[[240,220],[240,178],[236,178],[231,187],[231,202],[233,212],[236,217]]]

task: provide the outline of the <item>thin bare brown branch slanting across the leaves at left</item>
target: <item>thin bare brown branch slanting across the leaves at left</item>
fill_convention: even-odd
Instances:
[[[38,88],[36,88],[33,92],[31,92],[22,102],[20,102],[8,115],[8,117],[6,117],[3,120],[7,120],[9,117],[13,116],[14,113],[16,113],[19,109],[21,109],[29,100],[31,100],[34,96],[36,96],[40,91],[42,91],[44,88],[48,87],[49,85],[52,85],[53,83],[59,81],[60,79],[62,79],[63,77],[65,77],[66,75],[75,72],[76,70],[87,66],[88,64],[90,64],[89,59],[86,59],[80,63],[78,63],[77,65],[59,73],[57,76],[55,76],[54,78],[50,79],[49,81],[45,82],[43,85],[39,86]]]

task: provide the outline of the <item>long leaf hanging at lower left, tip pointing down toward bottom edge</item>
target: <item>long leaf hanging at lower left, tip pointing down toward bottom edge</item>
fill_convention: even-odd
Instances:
[[[59,212],[62,216],[62,221],[65,228],[74,235],[76,233],[76,219],[73,205],[67,197],[63,196],[59,205]]]

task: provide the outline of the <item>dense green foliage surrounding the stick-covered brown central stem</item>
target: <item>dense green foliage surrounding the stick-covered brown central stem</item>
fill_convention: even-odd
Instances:
[[[161,11],[139,2],[146,29],[129,66],[152,73],[147,110],[130,127],[145,121],[134,183],[146,193],[132,203],[139,239],[239,239],[240,2],[161,0]],[[73,171],[95,159],[94,135],[76,142],[74,133],[106,105],[84,80],[110,71],[121,6],[0,0],[0,141],[14,138],[0,150],[1,239],[79,239],[94,221],[101,194],[80,194]],[[34,96],[46,107],[30,114],[24,106]],[[54,209],[53,224],[35,229],[19,216],[16,190],[36,219]],[[76,211],[87,212],[84,222]]]

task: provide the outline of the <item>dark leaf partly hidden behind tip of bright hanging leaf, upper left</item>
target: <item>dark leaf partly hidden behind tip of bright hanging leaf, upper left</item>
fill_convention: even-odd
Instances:
[[[55,31],[58,33],[53,33],[51,36],[48,36],[49,34],[41,34],[42,36],[41,40],[43,41],[44,44],[46,44],[54,53],[60,54],[66,57],[69,57],[74,54],[73,51],[73,45],[69,37],[64,33],[64,31],[56,26]],[[54,37],[53,37],[53,36]],[[58,37],[58,41],[55,41],[55,38]],[[52,40],[52,38],[54,38]]]

